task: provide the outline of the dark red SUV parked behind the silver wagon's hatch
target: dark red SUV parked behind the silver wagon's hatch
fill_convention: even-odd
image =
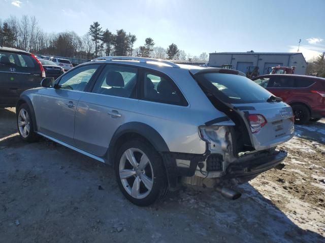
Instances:
[[[257,76],[252,80],[291,105],[297,124],[325,117],[325,78],[272,74]]]

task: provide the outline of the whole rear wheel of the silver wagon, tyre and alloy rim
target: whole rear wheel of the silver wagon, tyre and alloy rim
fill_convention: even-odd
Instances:
[[[161,156],[145,141],[124,143],[117,152],[115,173],[123,195],[133,204],[148,206],[166,195],[166,172]]]

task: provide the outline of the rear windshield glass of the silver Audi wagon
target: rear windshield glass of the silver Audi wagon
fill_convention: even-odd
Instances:
[[[210,82],[219,93],[219,99],[230,104],[262,103],[272,95],[247,77],[225,73],[199,73],[200,82]]]

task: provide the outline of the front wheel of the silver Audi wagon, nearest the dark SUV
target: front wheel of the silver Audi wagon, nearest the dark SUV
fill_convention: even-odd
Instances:
[[[38,136],[34,131],[34,120],[27,104],[22,104],[18,108],[17,127],[20,137],[27,142],[35,142]]]

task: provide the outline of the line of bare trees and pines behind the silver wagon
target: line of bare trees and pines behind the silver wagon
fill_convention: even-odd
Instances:
[[[205,62],[206,53],[191,56],[179,50],[172,43],[166,49],[156,46],[151,37],[144,40],[143,46],[135,47],[137,36],[124,29],[110,31],[103,29],[99,22],[93,22],[87,33],[79,36],[74,31],[48,33],[40,28],[36,17],[26,15],[0,19],[0,45],[25,50],[31,53],[93,59],[99,56],[138,56],[159,59],[179,59],[192,62]]]

